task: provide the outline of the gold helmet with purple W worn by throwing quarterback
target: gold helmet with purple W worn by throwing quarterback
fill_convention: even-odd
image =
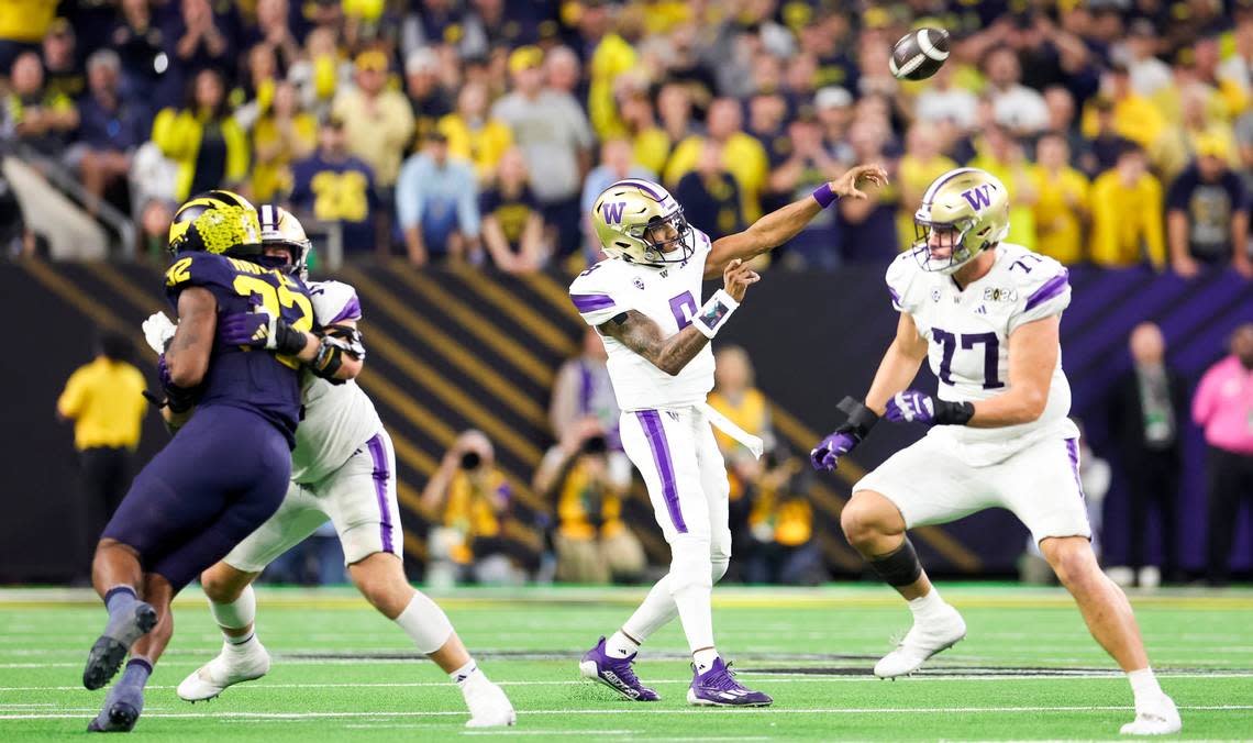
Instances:
[[[695,253],[683,207],[668,190],[643,178],[619,180],[596,197],[591,224],[605,254],[628,263],[665,266]]]

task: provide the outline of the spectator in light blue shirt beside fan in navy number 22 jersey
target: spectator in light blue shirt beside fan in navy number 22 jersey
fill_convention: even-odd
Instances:
[[[396,182],[396,217],[415,266],[479,253],[479,192],[470,163],[449,157],[442,132],[426,134]]]

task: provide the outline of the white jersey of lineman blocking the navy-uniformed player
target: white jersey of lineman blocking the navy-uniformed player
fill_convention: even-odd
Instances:
[[[361,320],[361,301],[351,286],[337,281],[306,283],[320,327]],[[304,417],[296,429],[296,450],[292,451],[292,480],[302,485],[318,482],[338,470],[382,429],[375,403],[352,380],[332,385],[306,372],[302,402]]]

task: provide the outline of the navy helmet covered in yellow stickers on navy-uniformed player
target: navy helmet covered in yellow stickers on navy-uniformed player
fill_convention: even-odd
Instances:
[[[187,200],[169,224],[170,253],[204,251],[256,258],[261,256],[261,224],[248,199],[229,190],[207,190]]]

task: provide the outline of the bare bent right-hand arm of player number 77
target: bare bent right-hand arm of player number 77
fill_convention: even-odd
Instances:
[[[1053,370],[1058,367],[1061,316],[1053,314],[1019,326],[1010,333],[1009,390],[975,402],[967,426],[999,429],[1030,423],[1044,415],[1049,403]]]

